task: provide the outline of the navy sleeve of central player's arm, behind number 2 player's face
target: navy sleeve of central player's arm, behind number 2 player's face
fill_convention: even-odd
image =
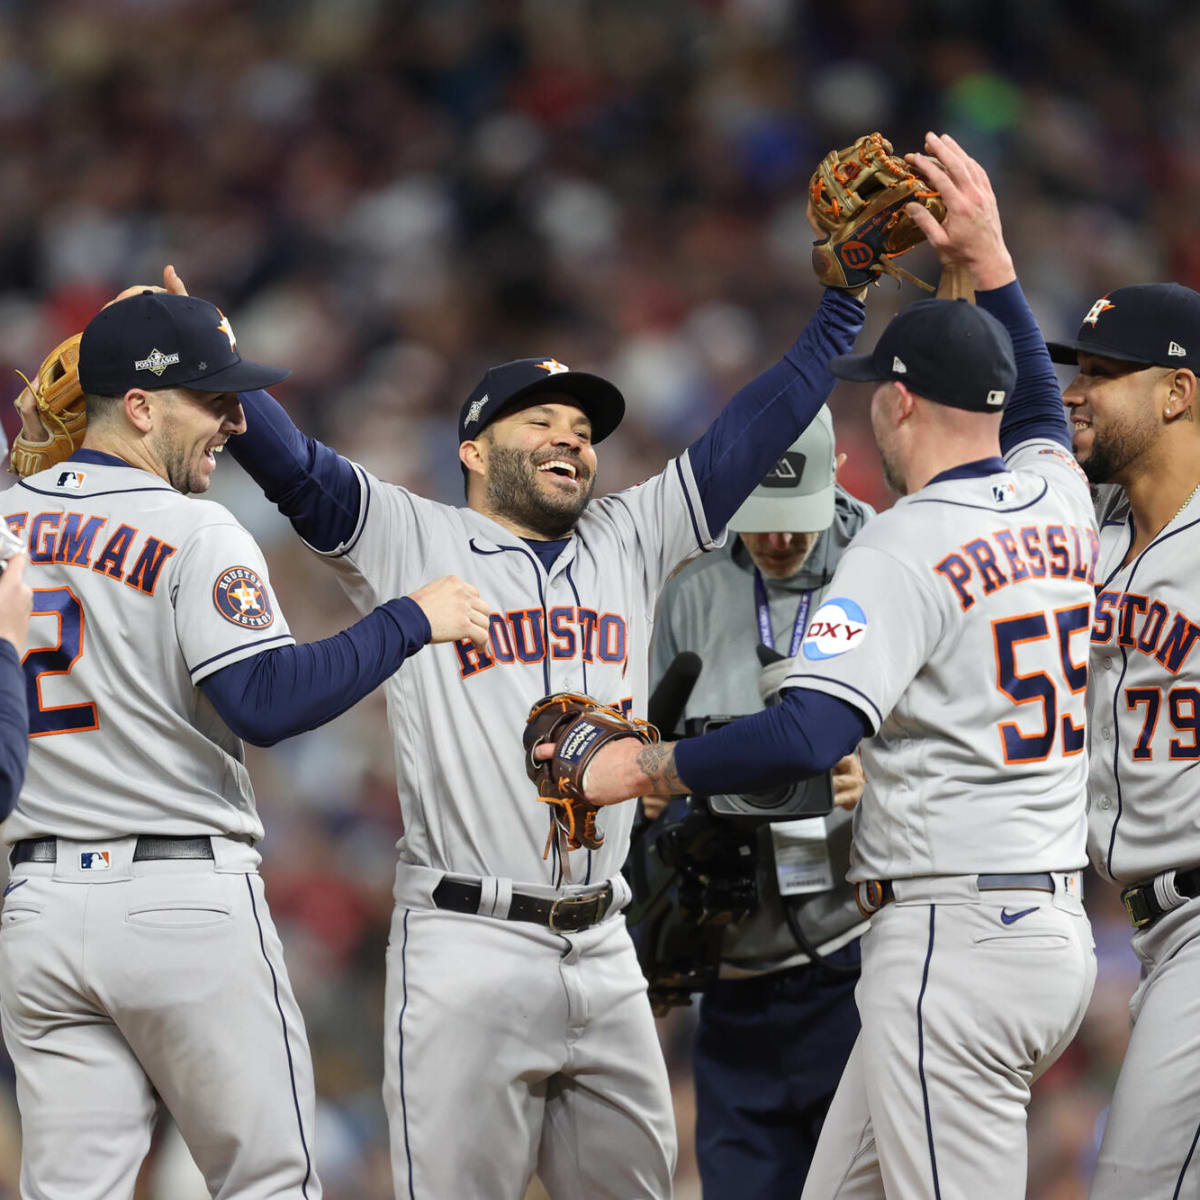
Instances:
[[[310,438],[265,391],[239,396],[246,432],[228,442],[229,454],[316,550],[331,551],[358,528],[359,474],[336,450]]]

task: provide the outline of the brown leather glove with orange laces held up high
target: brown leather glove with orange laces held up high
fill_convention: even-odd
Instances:
[[[809,180],[809,200],[810,217],[826,234],[812,244],[812,269],[826,287],[853,292],[887,274],[934,290],[893,259],[925,240],[904,206],[922,204],[944,221],[946,205],[892,154],[882,133],[830,150]]]

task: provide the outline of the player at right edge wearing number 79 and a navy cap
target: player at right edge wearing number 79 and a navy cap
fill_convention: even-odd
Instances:
[[[931,138],[931,155],[958,151]],[[937,166],[926,173],[938,182]],[[1007,259],[995,223],[985,258]],[[991,269],[995,269],[994,266]],[[1008,268],[1010,270],[1010,266]],[[1040,335],[998,312],[1026,347],[1024,380],[1050,391]],[[1200,1195],[1200,841],[1189,767],[1200,758],[1198,623],[1188,554],[1200,508],[1200,295],[1175,283],[1118,288],[1050,358],[1078,368],[1062,395],[1099,522],[1088,706],[1088,850],[1123,884],[1142,979],[1091,1195]]]

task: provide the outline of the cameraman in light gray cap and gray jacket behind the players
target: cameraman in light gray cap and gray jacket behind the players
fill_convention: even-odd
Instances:
[[[797,653],[839,557],[874,515],[835,485],[834,472],[833,420],[822,408],[730,518],[738,536],[667,583],[650,680],[682,650],[700,655],[685,720],[756,713],[760,694],[769,696],[786,674],[782,664],[760,667],[756,647],[787,659]],[[858,1034],[854,984],[866,922],[845,874],[848,810],[862,788],[857,757],[844,758],[828,817],[757,830],[758,905],[726,931],[720,978],[700,1006],[696,1157],[704,1200],[794,1200],[803,1187]],[[648,800],[648,815],[662,804]]]

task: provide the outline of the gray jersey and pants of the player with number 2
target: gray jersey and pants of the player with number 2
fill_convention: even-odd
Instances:
[[[319,1200],[263,828],[241,743],[197,686],[292,635],[229,512],[85,454],[0,498],[34,589],[0,914],[22,1195],[132,1195],[161,1097],[214,1195]]]

